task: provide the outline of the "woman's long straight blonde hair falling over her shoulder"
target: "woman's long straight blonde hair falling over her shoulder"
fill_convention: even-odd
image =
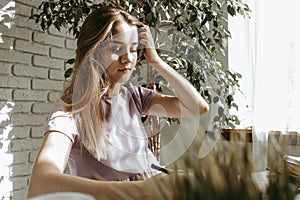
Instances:
[[[72,79],[63,91],[61,103],[73,115],[78,140],[98,160],[105,157],[107,137],[103,122],[107,120],[101,99],[110,85],[99,50],[112,35],[117,23],[142,25],[135,17],[114,7],[94,10],[83,23],[78,40]]]

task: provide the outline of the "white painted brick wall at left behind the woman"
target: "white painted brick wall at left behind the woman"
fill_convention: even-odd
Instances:
[[[28,20],[42,0],[1,0],[15,6],[12,26],[0,21],[0,199],[24,200],[32,164],[53,102],[65,83],[76,42],[65,29],[44,33]],[[3,42],[2,42],[3,41]]]

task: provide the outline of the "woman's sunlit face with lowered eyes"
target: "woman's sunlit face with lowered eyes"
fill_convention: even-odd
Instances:
[[[102,56],[111,83],[124,83],[137,62],[138,31],[136,26],[124,22],[117,23],[112,34]]]

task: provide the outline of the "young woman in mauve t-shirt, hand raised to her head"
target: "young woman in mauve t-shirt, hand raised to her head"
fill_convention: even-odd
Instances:
[[[139,45],[176,97],[127,83]],[[207,111],[196,89],[159,57],[149,27],[113,7],[95,10],[81,28],[72,80],[50,115],[28,197],[73,191],[118,199],[112,189],[117,188],[134,199],[151,199],[149,180],[163,175],[151,170],[157,161],[147,148],[141,116]],[[63,173],[67,163],[71,175]]]

